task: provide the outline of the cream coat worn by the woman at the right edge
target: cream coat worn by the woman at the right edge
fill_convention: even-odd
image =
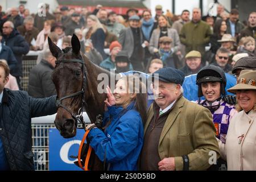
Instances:
[[[245,135],[241,140],[241,135]],[[240,137],[240,138],[239,138]],[[240,111],[229,124],[226,144],[219,141],[222,158],[228,170],[256,170],[256,111]]]

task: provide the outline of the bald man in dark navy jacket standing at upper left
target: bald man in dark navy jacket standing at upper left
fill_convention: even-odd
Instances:
[[[3,24],[3,39],[2,43],[10,47],[14,53],[18,64],[14,69],[12,75],[16,77],[20,88],[20,77],[22,77],[22,57],[30,51],[30,47],[26,40],[19,32],[14,29],[13,22],[7,21]]]

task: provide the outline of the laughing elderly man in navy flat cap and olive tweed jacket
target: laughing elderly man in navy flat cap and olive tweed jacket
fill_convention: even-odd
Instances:
[[[184,73],[151,75],[155,101],[144,125],[141,170],[205,170],[220,157],[210,111],[183,97]]]

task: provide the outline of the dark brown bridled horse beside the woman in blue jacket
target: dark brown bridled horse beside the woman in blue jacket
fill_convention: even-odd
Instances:
[[[90,122],[96,121],[98,114],[104,113],[105,93],[98,93],[97,87],[101,80],[98,74],[105,73],[110,79],[110,72],[93,64],[80,52],[80,42],[76,35],[72,36],[72,47],[61,51],[48,38],[49,49],[56,57],[56,67],[52,74],[57,97],[59,98],[55,126],[64,138],[76,135],[77,115],[84,109]],[[110,82],[110,80],[108,80]],[[84,107],[84,108],[82,108]],[[97,156],[92,154],[90,169],[103,169]]]

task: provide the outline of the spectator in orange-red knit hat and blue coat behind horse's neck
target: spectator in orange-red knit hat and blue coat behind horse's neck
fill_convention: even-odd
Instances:
[[[110,69],[115,68],[115,57],[117,56],[117,53],[122,50],[122,46],[118,41],[114,41],[109,46],[110,56],[102,61],[100,64],[100,67],[107,69],[110,71]]]

